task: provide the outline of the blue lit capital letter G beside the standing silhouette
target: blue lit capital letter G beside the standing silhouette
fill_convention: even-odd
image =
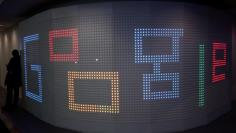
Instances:
[[[26,53],[27,53],[27,48],[26,45],[30,45],[29,42],[32,41],[37,41],[39,40],[39,35],[38,34],[34,34],[34,35],[30,35],[30,36],[26,36],[24,37],[24,77],[25,77],[25,93],[26,96],[34,99],[38,102],[42,102],[43,98],[42,98],[42,70],[41,70],[41,65],[33,65],[31,64],[31,71],[36,71],[38,74],[38,94],[34,94],[32,92],[29,91],[28,88],[28,75],[27,75],[27,57],[26,57]]]

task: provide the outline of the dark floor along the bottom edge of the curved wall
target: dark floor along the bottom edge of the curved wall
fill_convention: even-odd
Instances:
[[[4,115],[11,119],[18,131],[17,133],[78,133],[47,124],[21,108],[4,113]],[[29,123],[30,126],[28,125]],[[8,132],[4,123],[0,121],[0,133]],[[178,133],[236,133],[236,102],[233,103],[233,108],[229,113],[221,116],[210,124]]]

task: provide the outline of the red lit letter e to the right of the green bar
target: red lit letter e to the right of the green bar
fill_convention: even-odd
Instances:
[[[222,50],[224,52],[223,59],[216,59],[217,51]],[[225,73],[216,74],[216,68],[226,65],[226,44],[225,43],[213,43],[212,49],[212,82],[218,82],[225,80]]]

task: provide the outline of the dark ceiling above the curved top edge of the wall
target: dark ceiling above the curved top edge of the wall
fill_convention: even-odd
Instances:
[[[19,21],[53,7],[118,0],[0,0],[0,31],[7,30]],[[122,1],[122,0],[119,0]],[[123,0],[125,1],[125,0]],[[126,0],[127,1],[127,0]],[[140,0],[130,0],[140,1]],[[152,0],[153,1],[153,0]],[[190,2],[225,10],[236,16],[236,0],[159,0]]]

